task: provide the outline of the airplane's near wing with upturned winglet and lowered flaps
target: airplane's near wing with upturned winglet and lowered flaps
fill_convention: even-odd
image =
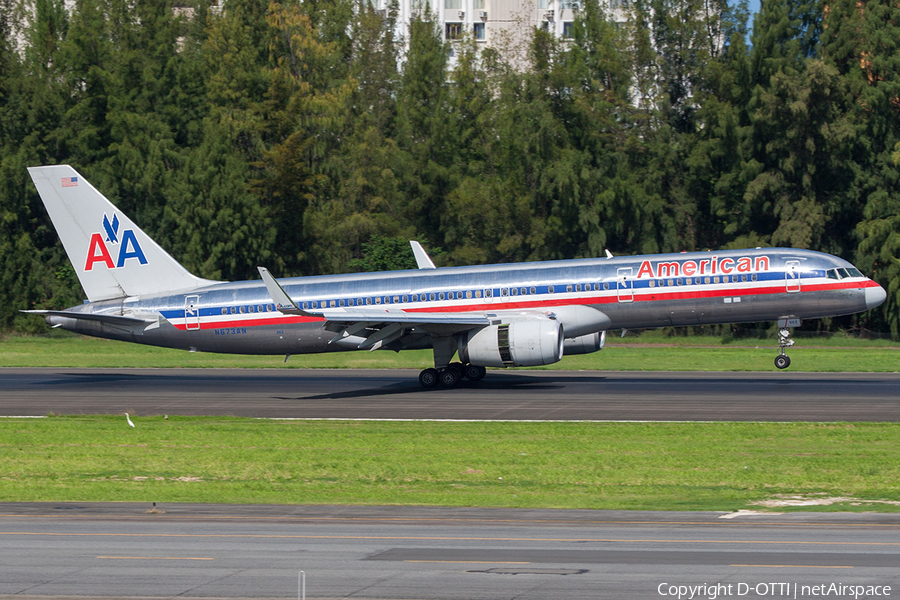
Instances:
[[[377,350],[410,333],[452,335],[491,324],[478,313],[406,312],[389,308],[326,308],[303,310],[265,267],[257,267],[275,308],[285,315],[325,319],[325,329],[336,333],[329,342],[341,341],[360,350]]]

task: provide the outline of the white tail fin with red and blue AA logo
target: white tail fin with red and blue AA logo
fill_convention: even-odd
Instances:
[[[214,283],[190,274],[72,167],[28,173],[91,302]]]

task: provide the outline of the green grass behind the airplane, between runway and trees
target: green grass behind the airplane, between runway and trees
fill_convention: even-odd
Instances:
[[[790,350],[792,371],[900,370],[900,346],[885,340],[801,339]],[[569,356],[550,369],[660,371],[775,371],[773,340],[722,340],[714,337],[609,336],[594,354]],[[6,336],[0,340],[0,367],[269,367],[422,369],[432,366],[430,350],[394,353],[341,352],[281,356],[188,353],[73,335]]]

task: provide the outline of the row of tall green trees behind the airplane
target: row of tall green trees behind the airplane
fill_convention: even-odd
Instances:
[[[0,328],[81,292],[27,166],[76,166],[194,273],[785,245],[889,289],[900,7],[583,3],[571,39],[406,40],[357,0],[0,0]],[[900,146],[897,147],[900,150]]]

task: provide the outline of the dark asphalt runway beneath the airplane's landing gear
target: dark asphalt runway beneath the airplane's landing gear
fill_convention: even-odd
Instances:
[[[900,374],[489,371],[455,389],[415,371],[0,369],[0,415],[320,419],[900,421]]]

